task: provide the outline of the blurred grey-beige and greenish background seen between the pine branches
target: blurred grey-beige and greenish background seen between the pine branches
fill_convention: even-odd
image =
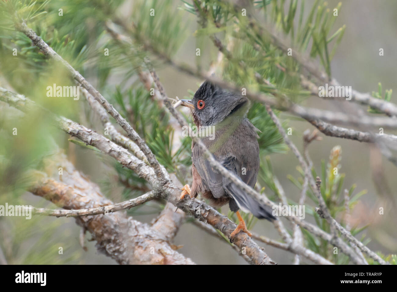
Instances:
[[[199,28],[197,17],[184,10],[178,9],[183,6],[183,2],[179,0],[169,2],[171,2],[172,7],[175,8],[175,14],[181,14],[184,20],[178,25],[186,29],[185,37],[181,43],[179,43],[179,48],[174,54],[173,59],[195,66],[197,62],[196,48],[199,43],[195,36],[195,32]],[[320,3],[322,4],[323,2],[320,1]],[[328,1],[328,8],[332,10],[338,3],[339,1]],[[305,15],[309,13],[313,4],[314,1],[306,1],[304,7]],[[55,11],[58,10],[56,9],[58,6],[64,7],[65,17],[73,18],[71,15],[67,16],[67,8],[69,6],[67,6],[65,2],[51,1],[47,5],[51,7],[51,9],[55,9]],[[90,5],[92,5],[92,7]],[[94,2],[90,3],[89,1],[83,10],[85,14],[84,21],[86,21],[85,25],[88,27],[95,27],[96,21],[103,21],[106,19],[106,17],[97,19],[98,16],[93,13],[94,7]],[[117,10],[119,16],[126,17],[137,13],[139,14],[139,12],[134,11],[134,7],[134,1],[125,1],[121,4],[121,8]],[[47,21],[49,24],[52,22],[51,17],[54,17],[53,15],[54,14],[48,15]],[[42,18],[40,25],[45,25],[46,17]],[[75,17],[76,19],[81,19],[81,16],[75,15]],[[77,23],[76,25],[80,24],[81,23]],[[339,28],[343,25],[346,25],[344,36],[331,61],[331,72],[333,77],[342,85],[351,85],[353,89],[360,92],[377,91],[378,82],[382,83],[383,89],[392,89],[394,92],[397,92],[395,82],[395,66],[397,64],[397,51],[395,50],[397,47],[397,2],[389,0],[343,1],[334,27]],[[46,32],[48,35],[51,34],[50,30],[51,29]],[[43,35],[44,32],[39,31],[39,33]],[[62,35],[62,33],[65,32],[62,32],[62,29],[60,29],[59,34]],[[45,38],[43,39],[45,40]],[[89,38],[79,41],[86,42],[87,49],[90,44],[93,44],[93,41]],[[106,42],[106,37],[104,37],[104,42]],[[180,42],[180,40],[178,40],[178,42]],[[51,46],[54,46],[54,44],[51,44]],[[379,56],[379,48],[384,49],[384,56]],[[2,87],[10,86],[10,90],[15,89],[15,91],[23,93],[31,99],[34,99],[33,96],[35,96],[37,98],[34,100],[40,101],[38,96],[45,96],[45,93],[43,94],[42,89],[40,93],[39,88],[45,87],[39,87],[37,84],[32,88],[26,87],[33,81],[36,82],[40,80],[40,78],[36,78],[42,73],[40,73],[39,70],[32,70],[31,72],[23,71],[22,73],[18,72],[18,66],[15,65],[15,61],[11,61],[12,57],[10,57],[9,52],[7,52],[8,55],[6,55],[6,49],[6,41],[2,41],[2,55],[0,56],[0,73],[2,75],[0,76],[0,85]],[[35,48],[31,50],[35,50]],[[63,56],[62,52],[59,53]],[[217,49],[214,48],[214,45],[207,39],[205,43],[202,44],[200,56],[202,69],[208,70],[211,62],[216,60],[217,55]],[[86,67],[84,72],[89,76],[87,79],[94,86],[101,88],[101,76],[96,76],[93,73],[95,71],[95,66],[92,65],[93,64],[85,64],[84,66]],[[171,98],[189,97],[191,92],[195,92],[203,81],[186,75],[185,73],[181,73],[171,66],[164,65],[161,60],[154,62],[154,65],[168,96]],[[134,68],[131,68],[131,70],[133,69]],[[121,84],[120,80],[123,79],[125,74],[125,71],[112,71],[109,73],[109,76],[106,76],[107,85],[103,87],[105,92],[103,95],[105,98],[114,94],[116,85],[120,85],[123,87],[122,89],[125,89],[137,84],[136,78],[132,78]],[[61,80],[64,79],[67,74],[66,72],[62,72],[59,68],[56,68],[54,72],[46,72],[46,76],[48,75],[52,75],[52,80],[54,82],[49,82],[48,79],[43,78],[43,84],[62,83]],[[29,93],[31,93],[30,96]],[[392,95],[391,101],[397,102],[395,96]],[[98,125],[97,117],[87,113],[87,104],[83,97],[80,98],[79,102],[59,100],[54,102],[62,102],[62,104],[56,104],[54,106],[47,104],[48,107],[52,108],[54,111],[62,113],[68,118],[78,121],[88,127],[91,124]],[[308,107],[327,110],[339,110],[340,108],[340,104],[319,99],[318,97],[309,97],[303,101],[303,104]],[[0,104],[0,112],[3,125],[8,123],[6,121],[7,116],[15,117],[18,115],[17,111],[14,111],[4,104]],[[185,114],[187,114],[187,112],[185,112]],[[279,117],[286,123],[287,127],[292,128],[292,135],[290,138],[295,145],[297,145],[299,150],[302,150],[303,131],[306,129],[312,131],[314,127],[306,121],[293,118],[284,113],[281,113]],[[113,201],[119,202],[123,201],[126,197],[139,195],[139,193],[135,193],[136,190],[126,191],[126,189],[119,184],[118,176],[120,172],[114,165],[115,162],[112,161],[112,159],[109,159],[105,155],[94,153],[90,149],[70,143],[67,140],[69,138],[68,135],[61,131],[48,128],[48,121],[45,120],[45,117],[32,116],[31,118],[37,121],[34,125],[34,134],[32,133],[29,135],[30,130],[26,127],[26,122],[17,125],[18,128],[21,128],[21,134],[18,133],[18,137],[20,138],[17,139],[17,141],[15,141],[15,139],[7,139],[6,134],[0,133],[2,134],[0,135],[2,137],[0,138],[0,143],[2,144],[3,151],[6,152],[10,147],[17,150],[19,149],[21,152],[25,151],[24,157],[17,155],[17,159],[12,161],[15,168],[18,168],[20,165],[23,165],[21,166],[22,168],[26,168],[26,161],[31,161],[33,163],[38,153],[44,155],[43,153],[45,153],[45,151],[43,151],[43,149],[45,148],[49,149],[48,153],[52,153],[53,149],[57,148],[57,146],[54,145],[57,144],[59,147],[65,149],[65,153],[75,164],[76,168],[89,176],[93,182],[96,182],[101,187],[102,192]],[[148,122],[149,121],[150,117],[148,117]],[[15,120],[13,123],[15,123]],[[37,135],[38,132],[41,132],[42,135]],[[49,136],[49,133],[51,134],[51,138],[47,139],[46,135]],[[397,134],[397,131],[385,130],[385,133]],[[378,155],[377,151],[372,149],[368,143],[326,137],[321,133],[320,136],[323,138],[322,141],[314,141],[309,146],[310,156],[314,162],[314,169],[316,172],[321,173],[322,160],[327,163],[330,159],[330,152],[333,147],[340,145],[341,167],[339,168],[339,172],[345,174],[344,188],[350,188],[352,185],[356,185],[355,194],[366,190],[351,210],[354,226],[362,228],[368,225],[368,227],[361,231],[356,237],[370,238],[371,240],[368,242],[368,247],[374,251],[381,251],[383,254],[396,253],[397,229],[395,228],[395,222],[397,222],[397,214],[393,212],[395,210],[395,205],[392,203],[393,200],[395,202],[397,199],[397,180],[395,179],[397,175],[396,167],[385,158]],[[178,135],[176,137],[178,137]],[[183,139],[181,135],[179,135],[179,137],[181,140]],[[37,141],[35,141],[35,139]],[[29,141],[29,143],[27,143],[27,141]],[[186,148],[189,147],[190,145],[187,143]],[[291,151],[282,152],[283,153],[268,153],[272,163],[273,174],[279,179],[287,197],[298,201],[300,190],[291,182],[291,176],[295,178],[300,177],[299,170],[297,170],[297,165],[299,163]],[[386,178],[385,181],[382,181],[382,184],[387,186],[390,190],[392,198],[382,197],[377,190],[373,181],[373,163],[382,164],[384,177]],[[36,167],[37,165],[33,163],[33,166]],[[0,183],[3,184],[3,187],[17,185],[17,188],[10,191],[10,188],[7,189],[4,187],[3,190],[8,191],[0,193],[0,204],[4,205],[4,202],[7,201],[9,204],[23,203],[24,205],[33,205],[35,207],[55,207],[40,197],[22,191],[24,182],[15,178],[15,176],[19,175],[18,171],[15,170],[15,174],[10,174],[10,168],[2,169],[4,172],[2,173],[3,178],[0,180]],[[7,172],[5,170],[7,170]],[[191,170],[187,167],[182,171],[189,173]],[[134,182],[136,181],[134,180]],[[191,184],[191,181],[187,183]],[[389,205],[386,206],[386,203]],[[376,216],[379,207],[385,208],[385,215]],[[150,222],[160,211],[161,206],[159,206],[158,203],[152,202],[136,210],[131,209],[130,212],[134,219],[142,222]],[[227,215],[227,206],[222,209],[222,212]],[[306,219],[310,222],[315,222],[314,219],[309,216],[306,216]],[[336,219],[339,222],[341,221],[341,218],[337,217]],[[258,234],[263,234],[273,239],[279,239],[278,233],[270,222],[258,220],[258,222],[254,224],[253,230]],[[116,264],[114,260],[102,254],[98,254],[95,248],[95,242],[86,240],[88,251],[83,251],[79,245],[79,232],[79,227],[75,224],[75,219],[72,218],[56,219],[53,217],[41,216],[33,216],[31,220],[24,220],[18,217],[0,218],[0,246],[9,263]],[[87,235],[87,237],[90,238],[89,235]],[[210,236],[191,223],[186,223],[181,226],[174,240],[174,244],[183,245],[183,248],[179,251],[198,264],[247,264],[242,257],[233,251],[233,249],[227,247],[226,242],[222,242]],[[292,263],[294,257],[292,253],[264,244],[261,245],[265,247],[266,253],[279,264]],[[59,246],[64,248],[63,255],[58,254]],[[303,261],[303,263],[307,262]]]

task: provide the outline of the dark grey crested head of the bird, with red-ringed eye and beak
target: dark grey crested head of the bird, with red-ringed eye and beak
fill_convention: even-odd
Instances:
[[[182,99],[174,106],[189,107],[197,126],[214,126],[233,114],[244,116],[247,112],[245,104],[248,104],[247,97],[205,81],[192,100]]]

